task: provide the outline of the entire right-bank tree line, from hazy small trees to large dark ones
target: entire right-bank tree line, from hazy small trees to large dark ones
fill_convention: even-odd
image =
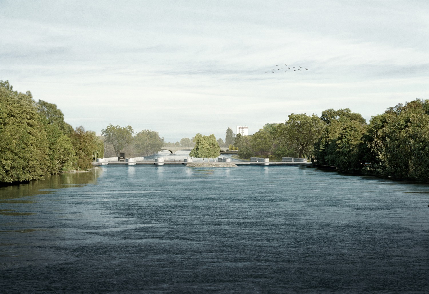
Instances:
[[[249,136],[235,136],[239,158],[306,157],[339,171],[429,181],[429,100],[389,107],[369,123],[359,113],[327,109],[290,114]]]

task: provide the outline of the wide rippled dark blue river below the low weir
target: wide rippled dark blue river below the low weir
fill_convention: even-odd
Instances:
[[[0,188],[2,293],[427,293],[429,185],[106,165]]]

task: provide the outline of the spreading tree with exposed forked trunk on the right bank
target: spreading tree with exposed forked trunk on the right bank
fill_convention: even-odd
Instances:
[[[315,114],[290,114],[289,120],[278,127],[278,132],[281,139],[295,142],[299,146],[298,157],[302,158],[304,152],[312,153],[323,126],[325,123]]]

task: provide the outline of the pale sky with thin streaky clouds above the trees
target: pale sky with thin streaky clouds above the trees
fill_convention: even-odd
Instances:
[[[429,99],[429,1],[0,0],[0,79],[97,135],[225,139],[329,108],[369,121]]]

